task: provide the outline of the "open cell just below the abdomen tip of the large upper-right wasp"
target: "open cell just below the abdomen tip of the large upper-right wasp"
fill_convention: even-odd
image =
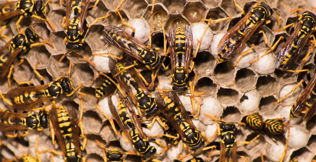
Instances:
[[[214,70],[214,77],[219,84],[232,81],[234,74],[235,68],[228,61],[217,64]]]

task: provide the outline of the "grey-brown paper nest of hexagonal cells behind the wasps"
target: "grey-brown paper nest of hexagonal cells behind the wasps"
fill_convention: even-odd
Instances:
[[[59,1],[53,0],[48,3],[48,18],[52,21],[55,31],[53,32],[47,23],[34,22],[33,26],[35,31],[44,39],[51,41],[54,44],[54,48],[43,45],[33,47],[28,54],[22,55],[25,62],[20,66],[16,65],[13,70],[13,76],[18,81],[31,80],[34,85],[40,85],[39,78],[33,74],[34,65],[37,62],[40,64],[37,66],[37,70],[44,76],[45,83],[49,83],[58,76],[61,76],[68,70],[69,60],[73,62],[71,69],[71,80],[74,86],[83,84],[80,88],[80,92],[84,92],[87,96],[74,94],[71,97],[61,97],[56,100],[58,104],[63,101],[68,101],[73,105],[77,105],[80,111],[81,98],[83,99],[83,129],[84,134],[88,139],[83,156],[86,160],[102,161],[103,154],[101,148],[94,140],[101,141],[108,148],[124,148],[128,151],[131,147],[129,143],[126,143],[120,139],[121,135],[116,135],[107,119],[96,109],[98,103],[100,108],[109,112],[107,108],[107,97],[96,99],[94,97],[94,88],[96,84],[91,79],[99,76],[100,72],[109,73],[108,60],[109,56],[93,56],[91,53],[106,53],[111,52],[119,55],[121,51],[115,47],[109,46],[102,36],[102,29],[106,25],[115,25],[120,28],[125,28],[122,25],[118,15],[115,14],[115,8],[118,6],[118,0],[101,0],[97,7],[88,12],[87,22],[90,23],[96,17],[110,14],[104,20],[99,20],[98,23],[92,25],[86,30],[85,43],[80,51],[86,57],[90,58],[96,65],[91,65],[86,62],[82,57],[76,54],[69,54],[64,58],[61,63],[58,60],[62,57],[62,54],[67,52],[64,43],[64,37],[66,36],[64,28],[62,27],[62,20],[65,15],[65,9],[59,5]],[[94,3],[94,2],[91,2]],[[252,9],[256,1],[237,0],[237,3],[245,10],[245,12]],[[295,12],[290,13],[291,9],[306,8],[310,11],[314,11],[310,6],[316,6],[313,1],[284,1],[284,0],[267,0],[267,3],[271,8],[279,15],[280,26],[283,27],[287,24],[297,22],[298,17]],[[312,4],[312,5],[311,5]],[[90,4],[92,5],[92,4]],[[196,51],[197,41],[201,38],[202,33],[206,27],[205,22],[200,22],[203,19],[220,19],[225,17],[232,17],[234,22],[240,20],[241,11],[234,6],[232,0],[219,0],[219,1],[196,1],[196,0],[162,0],[155,1],[153,14],[150,14],[152,8],[152,1],[146,0],[126,0],[121,5],[119,11],[125,22],[128,22],[136,29],[135,37],[143,43],[148,43],[148,36],[151,31],[155,29],[152,34],[152,47],[160,47],[158,54],[163,55],[163,32],[162,25],[165,21],[164,28],[166,29],[166,36],[168,36],[169,29],[173,24],[177,24],[185,29],[185,25],[190,25],[193,32],[193,52]],[[301,13],[300,13],[301,14]],[[263,30],[267,36],[268,43],[272,45],[280,36],[287,38],[289,36],[289,29],[281,31],[271,31],[280,28],[277,24],[276,14],[274,13],[269,20],[270,24],[260,26],[259,30]],[[26,28],[30,23],[29,18],[24,18],[20,24],[20,28]],[[11,23],[3,32],[9,37],[17,34],[15,23]],[[232,64],[240,57],[236,55],[229,61],[217,64],[217,44],[222,36],[231,28],[229,20],[225,20],[216,24],[211,24],[207,29],[203,39],[201,40],[201,46],[197,52],[195,61],[194,73],[198,72],[196,90],[204,92],[201,95],[201,112],[198,118],[192,119],[195,126],[199,131],[202,131],[210,138],[216,130],[214,121],[204,114],[210,114],[213,116],[221,117],[222,120],[229,122],[240,122],[242,117],[259,113],[263,116],[264,120],[274,118],[285,118],[285,121],[289,120],[289,110],[303,90],[302,86],[299,86],[295,92],[291,93],[281,103],[273,105],[279,98],[289,92],[293,88],[297,81],[301,79],[306,80],[304,73],[291,73],[275,70],[274,62],[276,55],[280,47],[284,44],[281,41],[277,45],[276,49],[260,59],[258,62],[250,65],[249,62],[258,58],[265,53],[269,48],[264,43],[262,34],[255,34],[250,38],[256,46],[252,51],[247,53],[237,64],[233,67]],[[126,28],[127,32],[131,32],[130,28]],[[6,43],[6,39],[0,40],[1,46]],[[249,47],[244,47],[243,51]],[[304,50],[302,53],[307,53]],[[303,69],[311,70],[313,74],[315,69],[314,63],[314,50],[307,58]],[[302,54],[304,57],[304,54]],[[301,64],[301,63],[300,63]],[[293,69],[300,69],[300,64],[296,63]],[[149,70],[143,70],[142,74],[146,77],[150,75]],[[161,70],[158,74],[158,88],[171,87],[170,70]],[[13,80],[11,79],[11,83]],[[13,84],[12,88],[16,88],[17,85]],[[9,91],[8,81],[3,78],[0,82],[0,92],[6,93]],[[155,94],[155,92],[152,92]],[[115,99],[115,98],[113,98]],[[188,94],[180,95],[181,101],[184,103],[185,108],[188,111],[192,111],[190,98]],[[49,104],[48,104],[49,105]],[[210,106],[211,105],[211,106]],[[1,108],[8,107],[6,103],[1,101]],[[197,103],[195,103],[195,108]],[[79,113],[78,113],[79,114]],[[111,114],[108,114],[111,116]],[[308,122],[302,122],[301,119],[291,119],[286,128],[290,127],[290,137],[287,152],[284,161],[298,158],[299,161],[311,161],[316,154],[316,127],[315,117]],[[159,131],[162,131],[160,126],[156,126]],[[237,141],[249,141],[257,134],[244,126],[236,125],[237,129],[235,135]],[[152,128],[154,129],[154,128]],[[287,129],[285,129],[287,130]],[[154,132],[144,128],[145,133],[148,135],[154,135]],[[163,131],[162,131],[163,132]],[[60,151],[58,144],[52,145],[51,137],[49,136],[49,130],[39,131],[39,150],[54,148]],[[287,131],[284,131],[279,137],[271,137],[268,135],[262,135],[254,142],[243,145],[238,144],[237,154],[243,155],[248,161],[261,161],[260,153],[264,155],[266,161],[279,161],[284,150],[285,139],[287,137]],[[158,140],[163,142],[162,138],[157,137]],[[120,142],[117,142],[120,140]],[[35,157],[35,131],[30,131],[30,134],[21,138],[7,138],[4,133],[1,132],[2,147],[0,156],[7,159],[13,159],[14,156],[22,156],[23,152],[27,152]],[[219,137],[216,136],[212,141],[219,141]],[[165,143],[164,143],[165,144]],[[159,146],[158,146],[159,148]],[[133,150],[133,149],[131,149]],[[161,154],[156,159],[161,161],[173,161],[182,152],[182,142],[176,146],[168,148],[168,151]],[[157,149],[159,152],[159,149]],[[194,154],[197,157],[206,159],[210,151],[197,151]],[[185,155],[185,152],[183,152]],[[40,154],[42,161],[50,161],[51,154],[49,152]],[[128,155],[131,156],[131,155]],[[219,157],[219,151],[214,151],[210,161],[214,161]],[[190,159],[192,156],[186,158]],[[54,160],[62,161],[63,158],[59,155],[54,155]],[[131,156],[127,161],[140,161],[139,157]]]

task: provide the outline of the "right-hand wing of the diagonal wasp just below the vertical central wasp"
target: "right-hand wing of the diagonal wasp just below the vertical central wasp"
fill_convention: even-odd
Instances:
[[[197,128],[196,128],[195,125],[193,124],[193,122],[192,122],[192,120],[191,120],[191,118],[190,118],[188,112],[185,110],[185,108],[184,108],[182,102],[180,101],[180,98],[179,98],[179,96],[177,95],[177,93],[176,93],[176,92],[173,92],[173,91],[171,91],[171,92],[166,92],[166,93],[167,93],[167,95],[168,95],[169,98],[172,98],[172,99],[173,99],[173,102],[174,102],[174,104],[178,107],[178,109],[180,109],[182,120],[188,122],[188,123],[190,124],[190,126],[191,126],[193,129],[196,130]]]

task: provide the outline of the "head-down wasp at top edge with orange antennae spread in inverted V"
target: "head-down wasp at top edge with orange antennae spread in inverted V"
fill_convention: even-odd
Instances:
[[[66,16],[63,19],[63,27],[65,28],[66,33],[64,42],[66,43],[66,48],[69,50],[69,52],[65,53],[58,62],[61,62],[67,54],[75,52],[86,59],[90,64],[95,65],[86,56],[84,56],[82,53],[79,53],[78,50],[82,48],[82,44],[84,43],[83,27],[86,24],[85,20],[87,12],[88,10],[95,8],[99,0],[97,0],[94,3],[94,6],[90,8],[90,0],[66,0],[66,4],[62,4],[62,1],[63,0],[60,0],[60,5],[66,7]],[[87,26],[89,27],[96,23],[99,19],[103,19],[108,16],[109,14],[96,18]]]

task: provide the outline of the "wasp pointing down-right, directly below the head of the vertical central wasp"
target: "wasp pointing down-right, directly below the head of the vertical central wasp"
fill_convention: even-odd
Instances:
[[[164,94],[157,93],[155,98],[161,113],[177,130],[182,140],[189,144],[189,148],[192,151],[201,148],[205,143],[204,137],[192,123],[178,95],[175,92],[164,92]]]

